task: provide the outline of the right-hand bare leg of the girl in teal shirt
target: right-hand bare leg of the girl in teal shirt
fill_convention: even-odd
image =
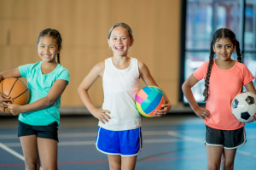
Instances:
[[[58,169],[58,142],[56,140],[38,138],[38,152],[44,170]]]

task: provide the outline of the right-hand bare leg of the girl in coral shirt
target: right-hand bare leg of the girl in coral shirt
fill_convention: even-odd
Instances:
[[[235,156],[236,156],[236,149],[234,150],[224,149],[223,151],[224,161],[222,161],[221,170],[233,170]]]

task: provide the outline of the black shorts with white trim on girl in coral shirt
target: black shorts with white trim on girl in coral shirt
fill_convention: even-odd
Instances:
[[[223,146],[224,149],[236,149],[247,142],[244,127],[236,130],[220,130],[206,125],[205,144]]]

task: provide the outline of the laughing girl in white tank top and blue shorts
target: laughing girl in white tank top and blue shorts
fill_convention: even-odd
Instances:
[[[139,79],[148,86],[158,86],[147,65],[128,57],[134,38],[130,26],[116,23],[108,31],[108,46],[113,57],[96,64],[79,86],[79,96],[90,113],[99,120],[96,148],[108,155],[111,170],[135,169],[137,155],[142,149],[141,119],[135,106]],[[102,77],[104,103],[97,109],[90,101],[88,90],[98,77]],[[167,98],[166,98],[167,99]],[[166,115],[167,104],[156,111],[155,117]]]

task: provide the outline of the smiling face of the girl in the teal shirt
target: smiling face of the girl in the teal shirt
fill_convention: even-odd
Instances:
[[[48,36],[40,38],[38,42],[38,55],[43,62],[56,62],[55,57],[60,51],[61,49],[58,48],[58,44],[54,38]]]

